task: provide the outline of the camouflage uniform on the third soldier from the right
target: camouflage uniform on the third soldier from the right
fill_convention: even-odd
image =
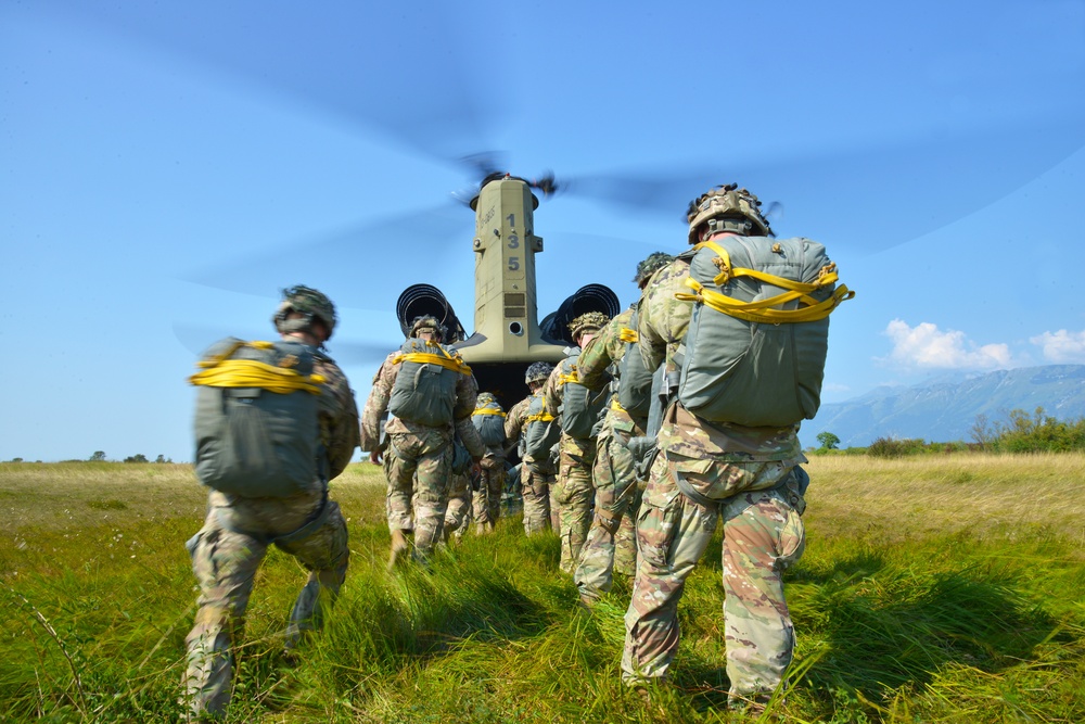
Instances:
[[[573,347],[573,354],[579,348]],[[573,363],[566,358],[550,373],[542,389],[546,408],[558,417],[564,402],[564,376],[573,371]],[[561,431],[558,447],[558,480],[553,485],[553,499],[558,503],[561,536],[560,568],[572,573],[580,557],[580,548],[588,536],[591,524],[591,467],[596,461],[596,441],[592,437],[573,437]]]

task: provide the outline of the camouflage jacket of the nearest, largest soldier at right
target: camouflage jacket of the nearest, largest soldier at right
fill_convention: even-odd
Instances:
[[[678,257],[656,271],[640,301],[638,345],[646,364],[658,367],[666,361],[667,370],[677,369],[674,360],[686,338],[693,312],[692,302],[675,299],[687,292],[689,261]],[[689,458],[710,457],[722,461],[805,461],[799,443],[799,425],[788,428],[745,428],[730,423],[710,423],[685,410],[677,403],[660,430],[660,449]]]

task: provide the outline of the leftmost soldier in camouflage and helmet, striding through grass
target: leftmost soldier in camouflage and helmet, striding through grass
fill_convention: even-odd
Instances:
[[[284,497],[246,497],[218,490],[208,495],[204,525],[186,544],[200,584],[195,625],[184,639],[186,703],[195,719],[226,715],[232,690],[232,639],[243,625],[256,570],[269,545],[309,570],[290,614],[288,651],[321,625],[324,609],[346,576],[346,523],[339,504],[328,499],[328,481],[343,472],[358,446],[358,408],[343,371],[321,351],[335,329],[335,307],[315,289],[293,287],[283,290],[272,321],[284,341],[306,345],[314,372],[324,378],[317,402],[317,472],[306,490]],[[193,382],[207,384],[195,378]]]

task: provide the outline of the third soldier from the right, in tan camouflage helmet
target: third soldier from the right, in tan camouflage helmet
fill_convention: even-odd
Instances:
[[[547,412],[561,420],[561,443],[558,460],[558,482],[554,500],[561,519],[561,570],[572,573],[580,556],[580,548],[591,524],[591,466],[596,459],[598,422],[602,417],[608,395],[605,391],[592,393],[578,382],[577,357],[610,321],[601,312],[588,312],[569,323],[569,331],[577,346],[567,350],[565,357],[547,379],[542,397]]]

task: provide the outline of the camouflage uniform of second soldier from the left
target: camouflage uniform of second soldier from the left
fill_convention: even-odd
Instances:
[[[398,351],[390,354],[373,377],[373,390],[361,416],[362,449],[380,447],[381,420],[387,414],[392,390],[401,367],[401,363],[396,361],[399,356]],[[433,552],[444,529],[454,435],[459,435],[475,459],[486,453],[478,431],[471,423],[477,394],[474,377],[457,373],[450,423],[432,427],[394,417],[385,427],[388,437],[384,455],[384,474],[388,481],[385,501],[388,530],[413,531],[414,552],[421,559]]]

